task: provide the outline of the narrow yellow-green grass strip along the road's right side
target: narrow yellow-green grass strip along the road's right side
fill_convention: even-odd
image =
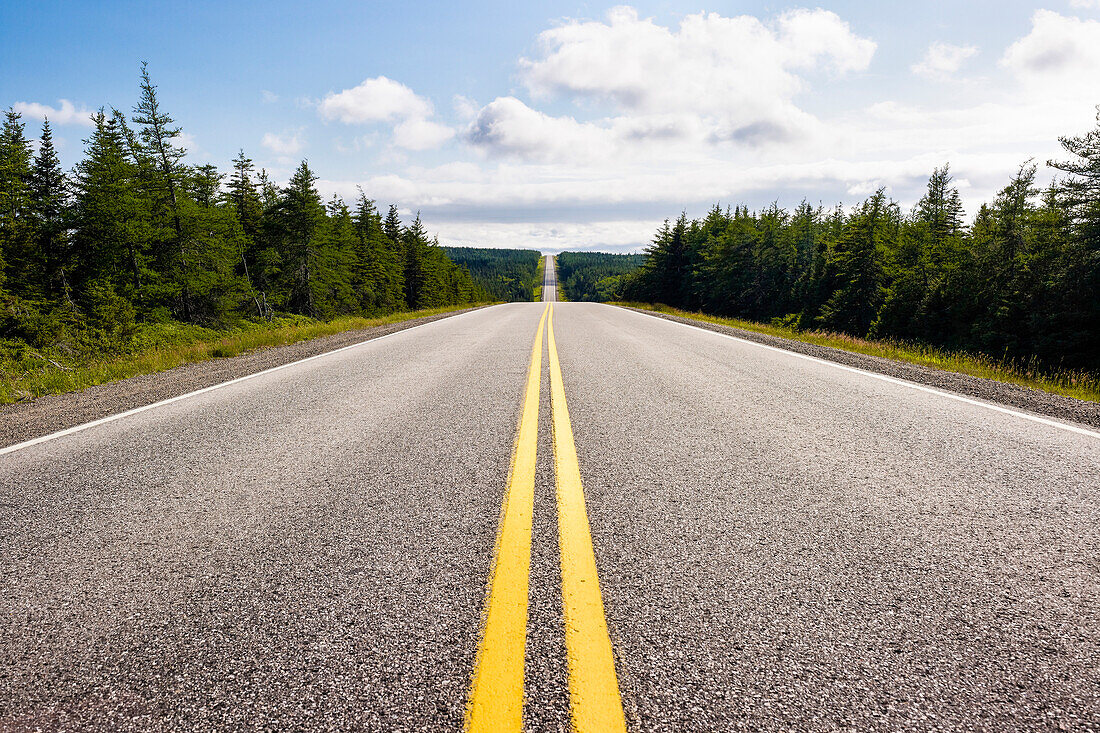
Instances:
[[[785,326],[759,324],[739,318],[721,318],[702,313],[679,310],[652,303],[615,303],[613,305],[642,308],[645,310],[681,316],[708,324],[732,326],[756,333],[778,336],[784,339],[843,349],[844,351],[853,351],[870,357],[904,361],[947,372],[981,376],[988,380],[1019,384],[1032,390],[1041,390],[1088,402],[1100,402],[1100,374],[1097,373],[1049,369],[1034,361],[1016,363],[1008,360],[998,360],[986,354],[947,351],[921,343],[886,340],[872,341],[833,331],[799,331]]]

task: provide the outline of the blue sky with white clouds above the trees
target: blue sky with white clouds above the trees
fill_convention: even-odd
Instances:
[[[0,107],[66,165],[142,61],[191,163],[308,160],[443,244],[625,252],[715,204],[909,207],[944,164],[972,212],[1096,124],[1100,0],[0,4]]]

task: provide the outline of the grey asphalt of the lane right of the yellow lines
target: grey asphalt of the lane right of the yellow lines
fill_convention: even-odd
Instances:
[[[1100,726],[1100,439],[554,308],[636,730]]]

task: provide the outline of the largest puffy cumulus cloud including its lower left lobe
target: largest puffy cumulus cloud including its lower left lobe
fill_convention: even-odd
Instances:
[[[535,161],[604,160],[626,150],[805,139],[815,127],[794,102],[804,75],[866,69],[876,44],[835,13],[795,10],[770,22],[751,15],[689,15],[678,28],[618,7],[606,21],[569,21],[539,35],[519,62],[535,99],[565,97],[609,108],[602,119],[551,117],[515,97],[485,106],[465,139],[491,154]],[[682,147],[681,147],[682,150]]]

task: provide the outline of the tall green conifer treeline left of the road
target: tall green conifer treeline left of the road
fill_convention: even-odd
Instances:
[[[285,187],[242,152],[229,174],[188,165],[182,130],[142,67],[128,118],[95,114],[62,168],[48,121],[32,153],[0,130],[0,339],[117,348],[138,324],[384,314],[485,297],[420,222],[321,199],[302,162]]]

